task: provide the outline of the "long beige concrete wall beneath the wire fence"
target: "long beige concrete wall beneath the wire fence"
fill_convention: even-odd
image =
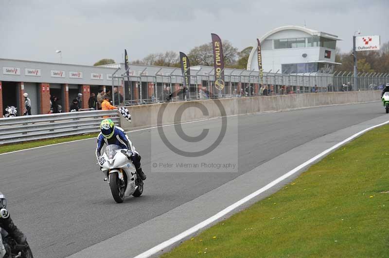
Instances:
[[[315,107],[334,104],[347,104],[368,102],[380,99],[380,91],[338,92],[338,93],[311,93],[293,94],[267,97],[242,97],[225,98],[219,100],[195,100],[171,103],[159,103],[150,105],[127,107],[132,116],[132,123],[123,117],[121,126],[125,130],[134,128],[157,126],[157,117],[161,109],[163,115],[162,125],[178,122],[189,122],[201,119],[221,116],[217,106],[220,103],[224,109],[223,115],[248,114],[268,111],[282,111],[305,107]],[[175,117],[178,109],[185,109],[181,119]],[[201,109],[206,109],[208,114],[203,114]],[[222,109],[222,111],[223,111]]]

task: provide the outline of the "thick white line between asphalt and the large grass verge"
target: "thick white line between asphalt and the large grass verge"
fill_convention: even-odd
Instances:
[[[337,143],[336,145],[333,145],[332,147],[324,150],[323,152],[319,153],[318,155],[316,155],[315,157],[311,158],[310,160],[308,161],[305,161],[304,163],[302,163],[301,165],[295,167],[294,169],[290,170],[289,172],[287,172],[286,174],[284,174],[283,176],[281,177],[278,177],[277,179],[271,181],[270,183],[268,183],[267,185],[265,185],[264,187],[262,187],[261,189],[255,191],[254,193],[252,194],[249,194],[247,195],[246,197],[240,199],[239,201],[231,204],[230,206],[228,206],[227,208],[225,208],[224,210],[221,210],[219,211],[218,213],[216,213],[215,215],[213,215],[212,217],[204,220],[203,222],[200,222],[199,224],[185,230],[184,232],[178,234],[177,236],[165,241],[165,242],[162,242],[156,246],[154,246],[153,248],[137,255],[136,257],[134,258],[147,258],[147,257],[150,257],[156,253],[158,253],[160,250],[163,250],[164,248],[174,244],[175,242],[178,242],[180,241],[181,239],[185,238],[185,237],[188,237],[192,234],[194,234],[195,232],[197,232],[198,230],[204,228],[205,226],[208,226],[210,225],[212,222],[220,219],[221,217],[225,216],[226,214],[228,214],[230,211],[238,208],[239,206],[241,206],[242,204],[248,202],[249,200],[251,200],[252,198],[258,196],[259,194],[262,194],[263,192],[265,192],[266,190],[270,189],[271,187],[275,186],[276,184],[280,183],[281,181],[283,181],[284,179],[292,176],[293,174],[295,174],[296,172],[300,171],[302,168],[306,167],[307,165],[313,163],[314,161],[317,161],[319,158],[323,157],[324,155],[328,154],[329,152],[333,151],[334,149],[338,148],[339,146],[353,140],[354,138],[358,137],[359,135],[371,130],[371,129],[374,129],[374,128],[377,128],[377,127],[380,127],[380,126],[383,126],[383,125],[386,125],[388,124],[389,121],[386,121],[384,123],[381,123],[381,124],[378,124],[378,125],[375,125],[375,126],[371,126],[367,129],[363,129],[357,133],[355,133],[354,135],[350,136],[349,138],[341,141],[340,143]]]

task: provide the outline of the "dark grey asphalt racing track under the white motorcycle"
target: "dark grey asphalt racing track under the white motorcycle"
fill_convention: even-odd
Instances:
[[[383,111],[374,102],[230,117],[235,130],[223,139],[225,151],[212,153],[213,157],[204,157],[204,161],[238,161],[234,173],[147,173],[155,171],[151,167],[154,162],[186,158],[175,157],[156,141],[157,129],[133,132],[130,138],[142,154],[148,178],[144,194],[123,204],[113,201],[95,165],[94,140],[1,155],[0,191],[8,196],[11,216],[27,234],[35,257],[64,258],[188,203],[293,148],[382,116]],[[213,135],[212,129],[218,129],[220,123],[220,119],[212,119],[182,128],[193,136],[211,128]],[[174,127],[164,127],[164,131],[175,133]],[[179,140],[173,144],[182,149],[198,148]],[[258,180],[271,181],[271,173],[268,170]]]

